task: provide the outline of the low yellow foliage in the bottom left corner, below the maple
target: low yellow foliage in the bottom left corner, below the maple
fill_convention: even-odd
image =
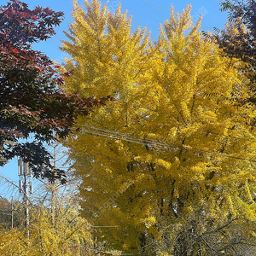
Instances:
[[[30,209],[30,224],[5,230],[0,234],[1,255],[94,255],[90,224],[79,217],[66,195],[67,201],[55,205],[55,218],[48,207],[39,206]],[[66,207],[61,205],[66,205]],[[28,235],[29,234],[29,235]]]

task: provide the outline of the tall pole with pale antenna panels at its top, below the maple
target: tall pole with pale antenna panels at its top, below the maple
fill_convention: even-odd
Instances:
[[[29,195],[32,194],[32,181],[29,181],[32,176],[31,169],[28,166],[28,163],[24,162],[21,158],[18,159],[18,175],[20,177],[19,180],[19,188],[20,193],[23,195],[23,201],[26,206],[26,229],[27,229],[27,239],[29,239]]]

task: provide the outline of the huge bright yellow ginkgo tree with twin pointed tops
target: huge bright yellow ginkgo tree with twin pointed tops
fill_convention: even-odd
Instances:
[[[104,239],[140,255],[183,255],[172,241],[195,212],[255,221],[255,111],[241,104],[243,62],[201,36],[191,6],[177,16],[172,8],[152,43],[145,29],[131,32],[120,6],[110,13],[99,1],[84,4],[74,2],[61,47],[72,56],[62,72],[73,70],[64,90],[115,98],[79,117],[65,142],[83,181],[84,217],[114,226]]]

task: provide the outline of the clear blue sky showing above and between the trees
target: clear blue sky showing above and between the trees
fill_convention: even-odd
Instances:
[[[7,2],[7,0],[2,0],[1,4],[4,5]],[[65,20],[61,23],[61,26],[56,28],[55,37],[46,42],[34,45],[34,49],[43,51],[55,61],[62,61],[65,55],[58,49],[58,47],[61,46],[61,39],[66,39],[63,31],[67,31],[70,22],[73,21],[71,16],[73,8],[72,1],[27,0],[24,2],[28,3],[31,9],[39,5],[42,7],[49,7],[55,11],[63,11],[65,13]],[[79,0],[79,3],[82,4],[83,1]],[[107,1],[104,0],[102,3],[107,3]],[[224,28],[224,23],[227,21],[227,13],[221,13],[219,11],[218,0],[110,0],[108,1],[108,9],[115,9],[119,3],[121,3],[123,11],[127,9],[128,15],[132,15],[132,30],[135,30],[137,26],[146,26],[148,31],[151,31],[152,40],[156,40],[158,37],[160,23],[164,23],[166,19],[169,19],[171,5],[173,5],[175,12],[182,12],[188,4],[192,4],[192,19],[195,21],[201,14],[203,14],[201,30],[204,31],[213,31],[214,26],[222,29]],[[12,160],[8,165],[0,167],[0,172],[3,173],[5,177],[9,177],[13,182],[18,184],[17,160]],[[1,191],[2,189],[0,188],[0,195]]]

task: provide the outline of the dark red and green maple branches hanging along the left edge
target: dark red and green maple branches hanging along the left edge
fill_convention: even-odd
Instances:
[[[63,15],[39,6],[29,9],[18,0],[0,6],[0,164],[20,156],[35,177],[65,182],[64,172],[52,172],[44,143],[66,137],[78,114],[88,114],[107,98],[65,94],[61,84],[72,73],[60,75],[59,66],[32,49],[32,43],[55,34],[53,26],[60,25]]]

